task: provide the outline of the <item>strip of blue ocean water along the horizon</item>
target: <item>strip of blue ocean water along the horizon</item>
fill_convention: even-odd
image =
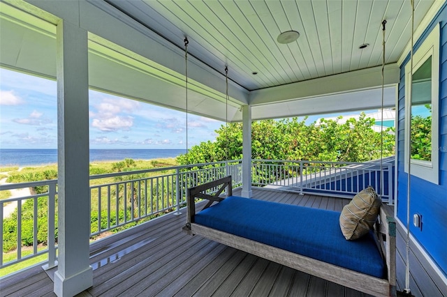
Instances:
[[[158,158],[175,158],[186,153],[184,149],[91,149],[90,162],[150,160]],[[0,148],[0,167],[38,166],[57,163],[57,149],[14,149]]]

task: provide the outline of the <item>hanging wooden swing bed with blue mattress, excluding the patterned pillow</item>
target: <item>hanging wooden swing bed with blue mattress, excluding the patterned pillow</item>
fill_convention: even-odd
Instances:
[[[381,206],[374,231],[346,241],[340,213],[235,197],[230,176],[189,188],[188,194],[188,234],[366,294],[395,296],[395,222],[388,206]],[[207,201],[197,213],[196,199]]]

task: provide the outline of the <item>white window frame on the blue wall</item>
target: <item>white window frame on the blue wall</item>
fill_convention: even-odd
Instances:
[[[411,159],[410,172],[426,181],[439,185],[439,24],[425,38],[413,54],[413,70],[408,61],[405,66],[405,172],[409,172],[409,128],[411,122],[411,83],[416,72],[432,56],[432,160]]]

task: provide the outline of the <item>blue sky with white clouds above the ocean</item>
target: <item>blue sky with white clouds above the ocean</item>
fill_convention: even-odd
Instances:
[[[0,69],[0,148],[57,148],[56,82]],[[188,115],[188,147],[223,124]],[[89,91],[90,148],[186,149],[186,114]]]

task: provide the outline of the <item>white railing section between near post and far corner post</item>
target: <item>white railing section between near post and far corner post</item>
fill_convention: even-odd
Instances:
[[[106,180],[90,187],[91,236],[162,213],[179,213],[186,206],[187,188],[227,175],[233,185],[242,184],[240,160],[91,176],[91,181]]]

